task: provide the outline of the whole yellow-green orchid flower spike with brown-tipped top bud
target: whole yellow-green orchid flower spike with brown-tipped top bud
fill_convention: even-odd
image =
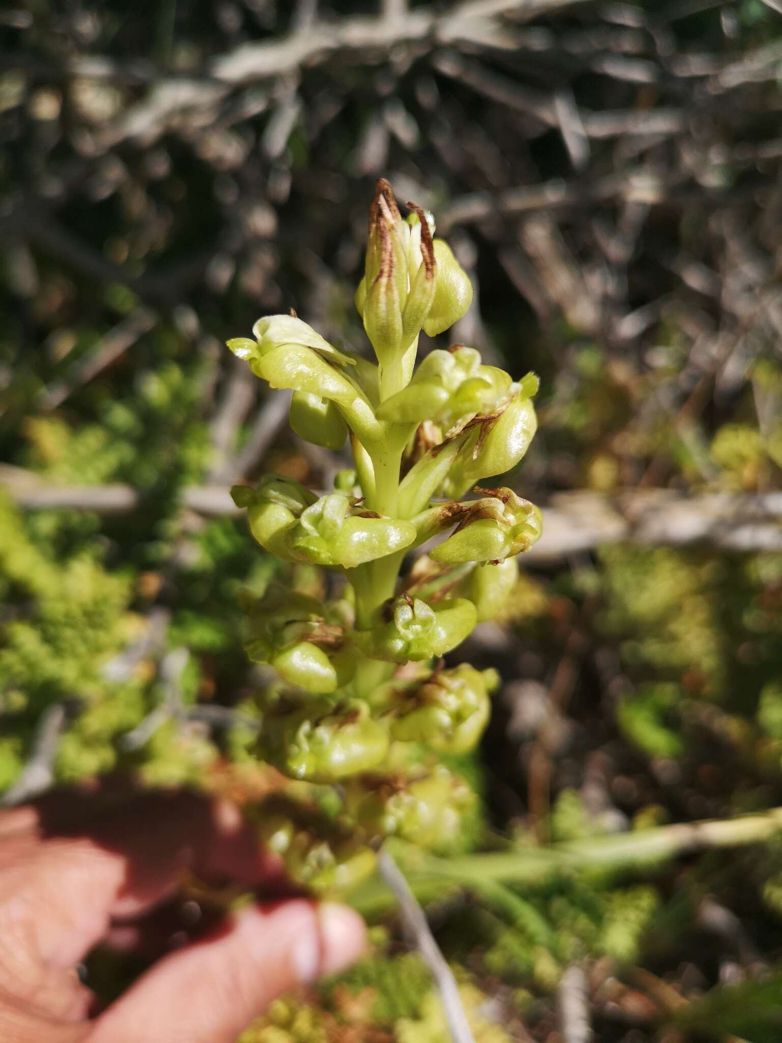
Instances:
[[[280,475],[231,489],[290,575],[337,574],[321,588],[328,597],[284,579],[247,601],[245,651],[279,678],[258,696],[255,753],[295,780],[273,814],[248,815],[317,894],[360,883],[386,836],[441,852],[462,843],[476,797],[439,757],[474,749],[499,678],[442,656],[503,610],[517,556],[542,531],[510,478],[480,485],[523,458],[537,378],[514,381],[464,344],[436,347],[416,368],[420,335],[459,321],[472,289],[432,215],[408,208],[406,218],[377,181],[356,293],[373,358],[293,312],[228,341],[255,375],[292,392],[300,438],[335,452],[347,441],[353,458],[322,494]],[[334,783],[326,812],[317,795]]]

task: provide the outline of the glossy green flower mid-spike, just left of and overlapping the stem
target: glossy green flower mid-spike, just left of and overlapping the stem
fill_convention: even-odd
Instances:
[[[355,568],[400,551],[415,538],[409,522],[362,512],[350,504],[347,495],[334,492],[302,511],[288,535],[290,553],[319,565]]]

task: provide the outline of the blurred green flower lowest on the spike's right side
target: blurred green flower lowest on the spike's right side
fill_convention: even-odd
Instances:
[[[463,779],[437,767],[410,779],[370,777],[364,796],[357,792],[355,815],[370,834],[399,836],[445,853],[459,846],[464,819],[474,814],[476,803],[475,794]]]

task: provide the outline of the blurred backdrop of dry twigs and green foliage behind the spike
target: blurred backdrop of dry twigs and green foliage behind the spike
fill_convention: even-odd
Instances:
[[[339,461],[222,342],[294,308],[364,343],[384,175],[473,280],[450,339],[541,378],[508,484],[547,531],[459,650],[504,679],[469,843],[782,804],[779,0],[23,0],[0,51],[6,803],[115,770],[277,784],[237,600],[277,566],[227,486]],[[432,912],[479,1041],[782,1037],[774,839]],[[376,942],[247,1043],[445,1040]]]

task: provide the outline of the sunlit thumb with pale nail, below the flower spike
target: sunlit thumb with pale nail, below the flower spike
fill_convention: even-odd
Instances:
[[[365,942],[363,921],[343,905],[243,909],[156,964],[95,1022],[89,1043],[234,1043],[275,996],[345,967]]]

